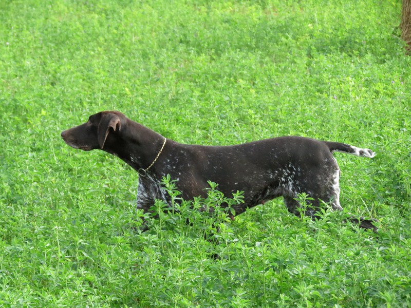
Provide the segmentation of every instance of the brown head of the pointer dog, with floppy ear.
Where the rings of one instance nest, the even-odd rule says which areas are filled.
[[[124,115],[118,111],[102,111],[91,115],[88,121],[61,133],[71,147],[90,151],[103,149],[110,132],[118,132]]]

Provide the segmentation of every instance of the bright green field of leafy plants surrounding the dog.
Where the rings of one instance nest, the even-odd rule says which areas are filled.
[[[411,306],[400,17],[400,0],[2,0],[0,306]],[[335,153],[344,213],[298,219],[278,198],[219,223],[157,202],[141,233],[137,173],[60,137],[101,110],[182,143],[291,134],[377,157]]]

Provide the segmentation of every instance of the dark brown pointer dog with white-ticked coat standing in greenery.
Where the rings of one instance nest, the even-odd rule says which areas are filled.
[[[332,155],[340,151],[372,158],[370,149],[339,142],[287,136],[230,146],[189,145],[166,139],[125,117],[119,111],[91,115],[82,125],[61,133],[71,147],[101,149],[118,156],[139,173],[137,208],[150,211],[155,199],[170,201],[161,179],[170,175],[185,200],[206,197],[208,181],[218,183],[227,197],[244,191],[244,203],[232,206],[235,215],[247,208],[283,196],[288,211],[298,217],[298,194],[306,193],[305,215],[316,217],[324,202],[333,210],[340,205],[340,168]],[[311,199],[310,198],[310,199]],[[377,228],[375,219],[351,218],[360,227]]]

